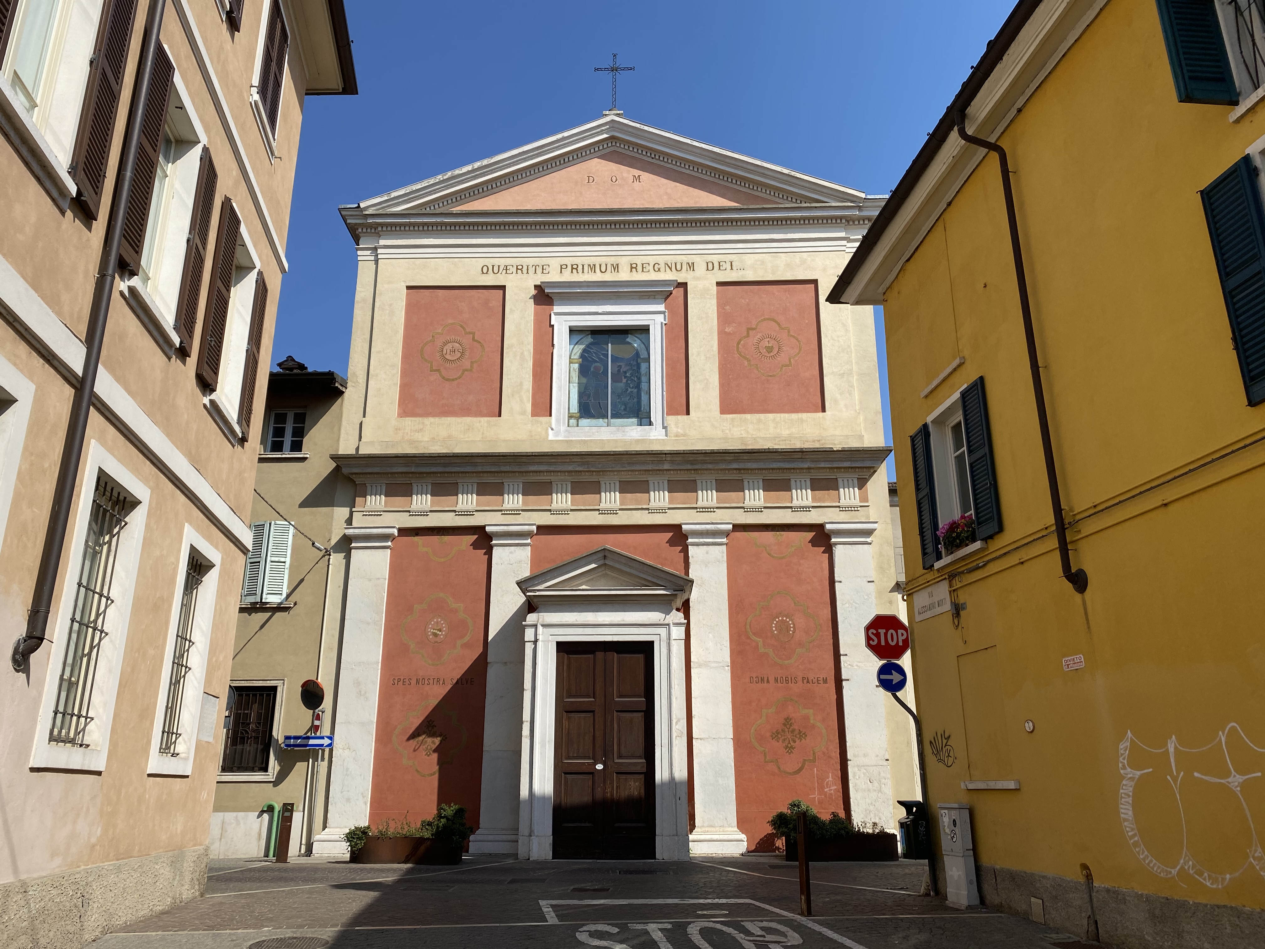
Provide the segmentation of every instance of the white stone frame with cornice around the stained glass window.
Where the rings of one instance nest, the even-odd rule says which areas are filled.
[[[541,288],[553,297],[549,321],[554,328],[553,424],[549,438],[665,438],[664,345],[665,301],[674,280],[548,281]],[[571,334],[586,329],[644,329],[650,334],[650,424],[569,426]]]

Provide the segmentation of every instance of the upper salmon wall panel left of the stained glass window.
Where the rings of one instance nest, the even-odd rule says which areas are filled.
[[[400,350],[401,419],[501,414],[505,287],[410,287]]]

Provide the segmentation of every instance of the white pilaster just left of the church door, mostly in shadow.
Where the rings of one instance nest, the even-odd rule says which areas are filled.
[[[516,854],[517,777],[522,755],[522,620],[528,615],[528,600],[517,581],[531,573],[531,535],[536,525],[488,524],[484,530],[492,537],[492,588],[487,611],[483,785],[479,828],[471,838],[471,853]]]

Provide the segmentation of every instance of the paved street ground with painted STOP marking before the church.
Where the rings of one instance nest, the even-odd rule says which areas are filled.
[[[918,896],[925,864],[466,858],[460,867],[213,860],[206,896],[102,936],[100,949],[1071,949],[987,910]]]

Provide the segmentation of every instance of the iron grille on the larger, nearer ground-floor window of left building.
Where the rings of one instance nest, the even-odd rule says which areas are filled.
[[[83,537],[83,558],[75,583],[75,606],[66,630],[66,653],[57,678],[49,744],[89,747],[86,734],[92,724],[92,690],[101,643],[109,635],[105,617],[114,604],[110,590],[119,558],[119,535],[128,525],[130,501],[123,491],[97,475]]]

